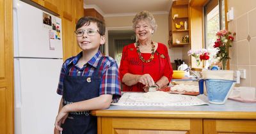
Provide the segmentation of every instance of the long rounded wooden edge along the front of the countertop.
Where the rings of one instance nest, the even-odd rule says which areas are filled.
[[[256,119],[256,112],[161,111],[161,110],[92,110],[99,117],[149,117],[193,119]]]

